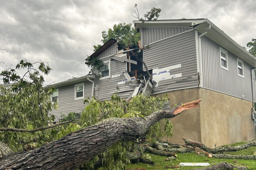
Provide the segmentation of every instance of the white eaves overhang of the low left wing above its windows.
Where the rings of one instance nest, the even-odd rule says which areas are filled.
[[[67,86],[69,84],[75,84],[75,83],[87,81],[87,77],[93,79],[93,78],[95,78],[95,74],[88,74],[88,75],[85,75],[85,76],[82,76],[82,77],[77,77],[77,78],[69,79],[69,80],[66,80],[66,81],[61,81],[61,82],[58,82],[58,83],[50,84],[48,86],[44,86],[43,90],[47,90],[49,87],[59,88],[59,87]]]

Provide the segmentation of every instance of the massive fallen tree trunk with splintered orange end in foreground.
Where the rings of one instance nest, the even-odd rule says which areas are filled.
[[[3,157],[0,169],[74,169],[106,151],[114,143],[136,140],[147,134],[159,120],[173,118],[184,110],[197,107],[200,102],[180,103],[173,109],[162,109],[144,118],[106,119],[38,149]]]

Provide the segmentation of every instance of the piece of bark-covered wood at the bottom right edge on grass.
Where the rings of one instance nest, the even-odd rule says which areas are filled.
[[[247,168],[244,166],[235,166],[227,162],[221,162],[211,167],[202,168],[202,169],[193,169],[193,170],[233,170],[233,169],[245,170]]]

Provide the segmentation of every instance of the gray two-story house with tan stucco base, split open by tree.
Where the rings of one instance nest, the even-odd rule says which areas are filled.
[[[83,99],[92,96],[106,100],[117,92],[129,100],[143,92],[167,93],[164,108],[197,98],[203,102],[172,118],[173,137],[163,140],[182,144],[184,136],[210,147],[255,138],[252,54],[208,19],[133,23],[141,34],[139,48],[124,49],[115,39],[106,42],[90,56],[103,61],[101,70],[52,85],[57,89],[52,101],[59,105],[52,114],[81,113]]]

